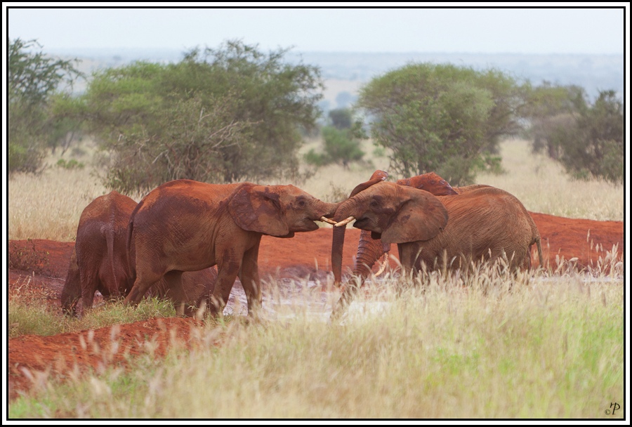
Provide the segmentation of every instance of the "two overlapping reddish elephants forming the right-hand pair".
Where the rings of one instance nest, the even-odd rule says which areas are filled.
[[[489,185],[452,188],[435,173],[397,183],[385,182],[387,176],[376,171],[336,210],[331,245],[336,283],[342,276],[344,226],[353,219],[354,227],[362,230],[354,268],[361,280],[393,243],[404,270],[419,271],[422,263],[428,270],[456,270],[473,261],[506,256],[515,271],[529,267],[533,244],[544,265],[538,229],[510,193]],[[350,302],[352,292],[353,287],[345,288],[334,312]]]

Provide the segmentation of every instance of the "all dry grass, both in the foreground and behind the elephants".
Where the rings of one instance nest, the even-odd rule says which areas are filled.
[[[506,141],[502,150],[510,173],[481,175],[479,183],[512,192],[531,211],[623,219],[621,187],[572,181],[550,160],[531,156],[525,141]],[[322,199],[343,197],[374,169],[388,170],[387,159],[372,162],[350,170],[329,166],[296,185]],[[11,178],[9,238],[72,240],[81,210],[105,192],[89,167]],[[467,283],[433,275],[424,286],[387,275],[380,286],[366,287],[339,324],[327,322],[336,292],[322,303],[313,291],[320,286],[296,282],[292,286],[304,294],[287,304],[274,294],[282,286],[272,282],[264,300],[272,310],[260,322],[207,320],[192,326],[197,348],[174,346],[161,360],[148,344],[147,357],[134,360],[131,370],[108,365],[65,381],[41,376],[39,388],[11,402],[8,414],[12,419],[619,418],[625,412],[613,417],[605,410],[611,402],[624,403],[622,268],[619,263],[586,276],[558,265],[517,280],[479,270]],[[10,306],[12,314],[20,310]],[[103,314],[107,310],[94,310],[94,316],[108,320],[82,321],[89,327],[111,324],[112,316]],[[49,315],[34,316],[51,324]],[[114,319],[127,318],[117,311]],[[221,345],[214,346],[218,339]]]

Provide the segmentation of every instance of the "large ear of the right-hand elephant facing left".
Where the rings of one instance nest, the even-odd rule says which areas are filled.
[[[406,243],[429,240],[441,232],[448,221],[445,206],[425,190],[402,188],[404,202],[386,229],[382,242]]]

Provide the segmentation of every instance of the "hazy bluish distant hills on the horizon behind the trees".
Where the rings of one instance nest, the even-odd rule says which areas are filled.
[[[116,67],[134,60],[172,63],[183,58],[177,49],[51,49],[48,53],[79,58],[80,69],[88,74],[101,67]],[[357,53],[290,51],[287,60],[317,65],[326,80],[322,107],[324,110],[346,107],[357,97],[357,89],[371,78],[407,63],[452,63],[475,70],[497,68],[520,81],[541,84],[577,84],[586,89],[591,99],[600,90],[624,91],[624,55],[532,55],[518,53]],[[77,87],[81,91],[81,86]]]

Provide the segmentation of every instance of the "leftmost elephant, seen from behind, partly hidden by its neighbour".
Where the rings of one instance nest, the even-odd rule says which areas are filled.
[[[133,199],[112,191],[94,199],[81,212],[77,241],[61,292],[64,313],[76,315],[79,298],[84,310],[91,308],[96,291],[110,299],[129,292],[127,224],[135,207]],[[178,315],[190,316],[210,296],[216,277],[214,268],[187,272],[181,283],[176,280],[178,277],[166,277],[152,296],[170,298]]]

